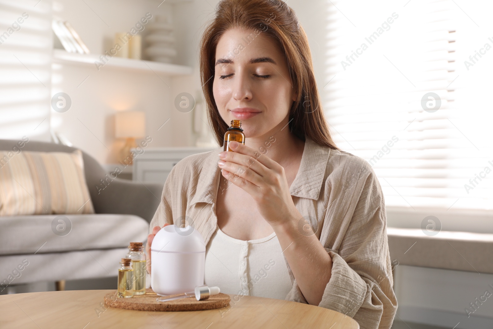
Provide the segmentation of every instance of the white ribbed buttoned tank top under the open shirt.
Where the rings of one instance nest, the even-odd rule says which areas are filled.
[[[217,226],[206,249],[204,284],[223,293],[284,299],[293,282],[276,232],[238,240]]]

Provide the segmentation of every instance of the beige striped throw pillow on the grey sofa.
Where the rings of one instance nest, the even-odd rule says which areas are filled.
[[[0,151],[0,216],[94,214],[82,152]]]

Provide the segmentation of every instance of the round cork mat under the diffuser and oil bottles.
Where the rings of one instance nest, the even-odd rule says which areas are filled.
[[[221,308],[229,304],[231,298],[225,293],[212,295],[209,299],[197,300],[186,297],[169,301],[156,301],[159,295],[147,288],[143,295],[131,298],[116,297],[117,292],[107,293],[105,302],[108,306],[136,311],[200,311]]]

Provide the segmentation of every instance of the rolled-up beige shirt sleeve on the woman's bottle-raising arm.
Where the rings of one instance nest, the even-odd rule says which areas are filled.
[[[324,226],[328,226],[322,228],[322,235],[335,231],[337,236],[322,243],[332,258],[332,271],[318,306],[352,317],[361,329],[389,329],[397,299],[392,289],[385,201],[372,168],[365,161],[359,169],[360,175],[352,172],[349,184],[332,186],[333,193],[344,194],[337,195],[338,201],[331,203],[325,215]],[[286,299],[307,303],[296,280]]]

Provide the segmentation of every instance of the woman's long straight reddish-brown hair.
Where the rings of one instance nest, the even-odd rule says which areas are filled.
[[[206,27],[200,45],[200,75],[209,122],[218,145],[228,125],[221,118],[212,94],[215,50],[229,29],[261,30],[285,54],[297,99],[289,110],[289,130],[301,140],[308,136],[322,146],[339,149],[330,136],[313,72],[312,55],[305,31],[294,11],[282,0],[221,0]]]

